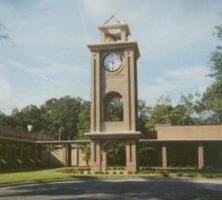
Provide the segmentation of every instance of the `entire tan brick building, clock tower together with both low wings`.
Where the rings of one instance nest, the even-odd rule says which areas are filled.
[[[129,26],[115,16],[98,29],[101,41],[88,45],[92,77],[89,140],[56,141],[46,134],[2,127],[0,166],[90,166],[92,172],[106,172],[110,145],[121,143],[129,172],[138,169],[139,146],[152,148],[143,157],[148,166],[222,167],[222,126],[159,125],[149,138],[141,138],[137,125],[138,44],[129,40]],[[118,105],[115,110],[113,103]],[[84,154],[87,144],[90,160]]]

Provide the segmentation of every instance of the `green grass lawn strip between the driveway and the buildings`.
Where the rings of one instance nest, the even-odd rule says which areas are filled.
[[[0,172],[0,186],[14,183],[25,183],[25,182],[37,182],[37,181],[49,181],[49,180],[64,180],[64,179],[110,179],[110,178],[162,178],[162,177],[205,177],[205,178],[218,178],[222,177],[221,170],[219,171],[200,171],[200,170],[182,170],[182,169],[169,169],[166,175],[161,171],[147,171],[146,173],[136,174],[81,174],[72,173],[73,167],[70,168],[53,168],[53,169],[15,169]],[[65,173],[64,173],[65,172]],[[202,200],[202,199],[201,199]],[[205,199],[203,199],[205,200]],[[208,200],[208,199],[206,199]],[[211,200],[211,199],[209,199]],[[217,197],[212,197],[212,200],[217,200]]]

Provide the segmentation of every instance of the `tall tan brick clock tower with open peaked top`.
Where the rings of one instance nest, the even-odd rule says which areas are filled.
[[[114,23],[113,23],[114,22]],[[137,59],[136,41],[129,41],[127,24],[112,16],[98,27],[101,41],[91,52],[91,171],[107,171],[110,144],[125,146],[126,170],[137,170]]]

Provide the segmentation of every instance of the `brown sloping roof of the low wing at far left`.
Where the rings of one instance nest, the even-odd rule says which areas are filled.
[[[0,137],[21,139],[21,140],[30,140],[30,141],[55,140],[54,137],[44,134],[44,133],[28,132],[28,131],[7,128],[7,127],[0,127]]]

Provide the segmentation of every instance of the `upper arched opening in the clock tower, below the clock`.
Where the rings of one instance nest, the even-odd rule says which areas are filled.
[[[117,92],[108,93],[104,99],[104,118],[108,122],[123,121],[123,98]]]

